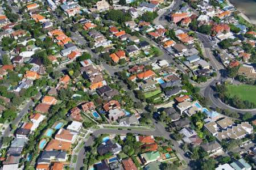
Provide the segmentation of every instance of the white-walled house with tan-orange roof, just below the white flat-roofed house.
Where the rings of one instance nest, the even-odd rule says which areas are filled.
[[[77,133],[72,132],[70,130],[65,130],[61,128],[57,134],[55,135],[55,139],[63,142],[69,142],[69,143],[74,143],[77,138]]]

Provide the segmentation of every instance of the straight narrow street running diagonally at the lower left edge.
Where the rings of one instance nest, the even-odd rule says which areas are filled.
[[[42,94],[39,92],[39,94],[36,95],[34,98],[35,98],[35,99],[40,99],[41,96],[42,96]],[[30,99],[29,99],[29,100],[30,100]],[[28,111],[30,110],[30,107],[31,107],[31,106],[34,106],[34,104],[35,104],[35,103],[34,103],[32,100],[30,100],[30,101],[25,105],[25,107],[22,109],[22,111],[20,111],[20,112],[17,114],[17,117],[14,119],[14,121],[11,122],[10,124],[13,124],[13,125],[17,126],[17,125],[19,124],[20,120],[22,119],[23,115],[26,114],[26,113],[28,113]],[[6,128],[6,130],[4,131],[3,135],[1,136],[0,148],[2,147],[2,139],[3,139],[4,137],[9,137],[9,136],[10,136],[10,133],[11,133],[11,128],[10,128],[10,126],[8,126],[8,127]]]

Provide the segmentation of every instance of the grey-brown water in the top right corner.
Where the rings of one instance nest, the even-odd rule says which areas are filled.
[[[229,0],[238,10],[245,14],[253,24],[256,24],[255,0]]]

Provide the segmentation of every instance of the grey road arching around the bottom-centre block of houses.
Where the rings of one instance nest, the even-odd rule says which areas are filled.
[[[92,133],[92,135],[88,138],[86,141],[84,147],[81,148],[78,154],[77,162],[76,162],[76,170],[82,169],[84,166],[84,152],[86,147],[92,146],[92,143],[96,137],[100,134],[123,134],[126,135],[127,133],[138,133],[138,134],[144,134],[144,135],[154,135],[154,136],[163,136],[168,140],[172,141],[172,145],[174,146],[175,150],[178,152],[178,156],[181,157],[181,159],[184,159],[185,162],[188,163],[188,167],[185,169],[196,169],[196,165],[191,162],[191,159],[189,159],[187,156],[185,156],[185,152],[180,148],[179,143],[177,141],[174,141],[170,138],[170,133],[168,133],[162,124],[158,123],[155,124],[155,130],[118,130],[118,129],[98,129]]]

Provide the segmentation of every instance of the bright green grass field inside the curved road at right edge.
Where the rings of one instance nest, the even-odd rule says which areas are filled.
[[[256,104],[256,86],[250,85],[229,85],[228,94],[232,97],[237,95],[241,100],[249,100]]]

